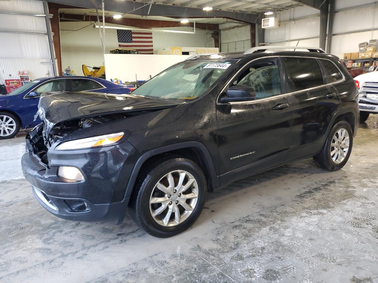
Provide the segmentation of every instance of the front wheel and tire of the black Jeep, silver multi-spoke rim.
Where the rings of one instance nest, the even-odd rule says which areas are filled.
[[[150,235],[171,237],[197,220],[205,194],[206,178],[197,163],[178,156],[166,157],[139,177],[130,212]]]

